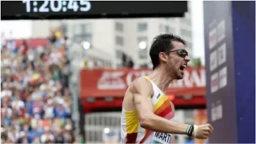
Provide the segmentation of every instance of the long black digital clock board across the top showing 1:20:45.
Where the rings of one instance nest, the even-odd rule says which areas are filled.
[[[1,1],[1,19],[182,17],[186,1]]]

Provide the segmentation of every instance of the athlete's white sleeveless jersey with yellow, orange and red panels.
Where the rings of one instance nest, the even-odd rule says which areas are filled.
[[[154,114],[166,119],[174,118],[174,106],[162,90],[148,77],[153,86]],[[122,143],[171,143],[171,134],[158,133],[142,128],[139,124],[137,110],[126,111],[122,109],[121,116],[121,142]]]

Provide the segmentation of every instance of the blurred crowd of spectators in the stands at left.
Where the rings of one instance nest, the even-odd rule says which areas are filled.
[[[66,37],[50,30],[46,46],[1,46],[1,142],[74,142]]]

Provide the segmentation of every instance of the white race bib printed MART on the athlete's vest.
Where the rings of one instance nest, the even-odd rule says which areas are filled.
[[[152,143],[171,143],[171,134],[154,132]]]

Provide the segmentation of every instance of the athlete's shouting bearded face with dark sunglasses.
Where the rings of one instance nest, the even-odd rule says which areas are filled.
[[[190,62],[190,58],[187,56],[186,46],[182,42],[173,41],[172,45],[174,49],[170,50],[170,53],[160,54],[160,58],[164,58],[162,60],[166,63],[166,72],[170,77],[182,79],[184,76],[183,70]]]

